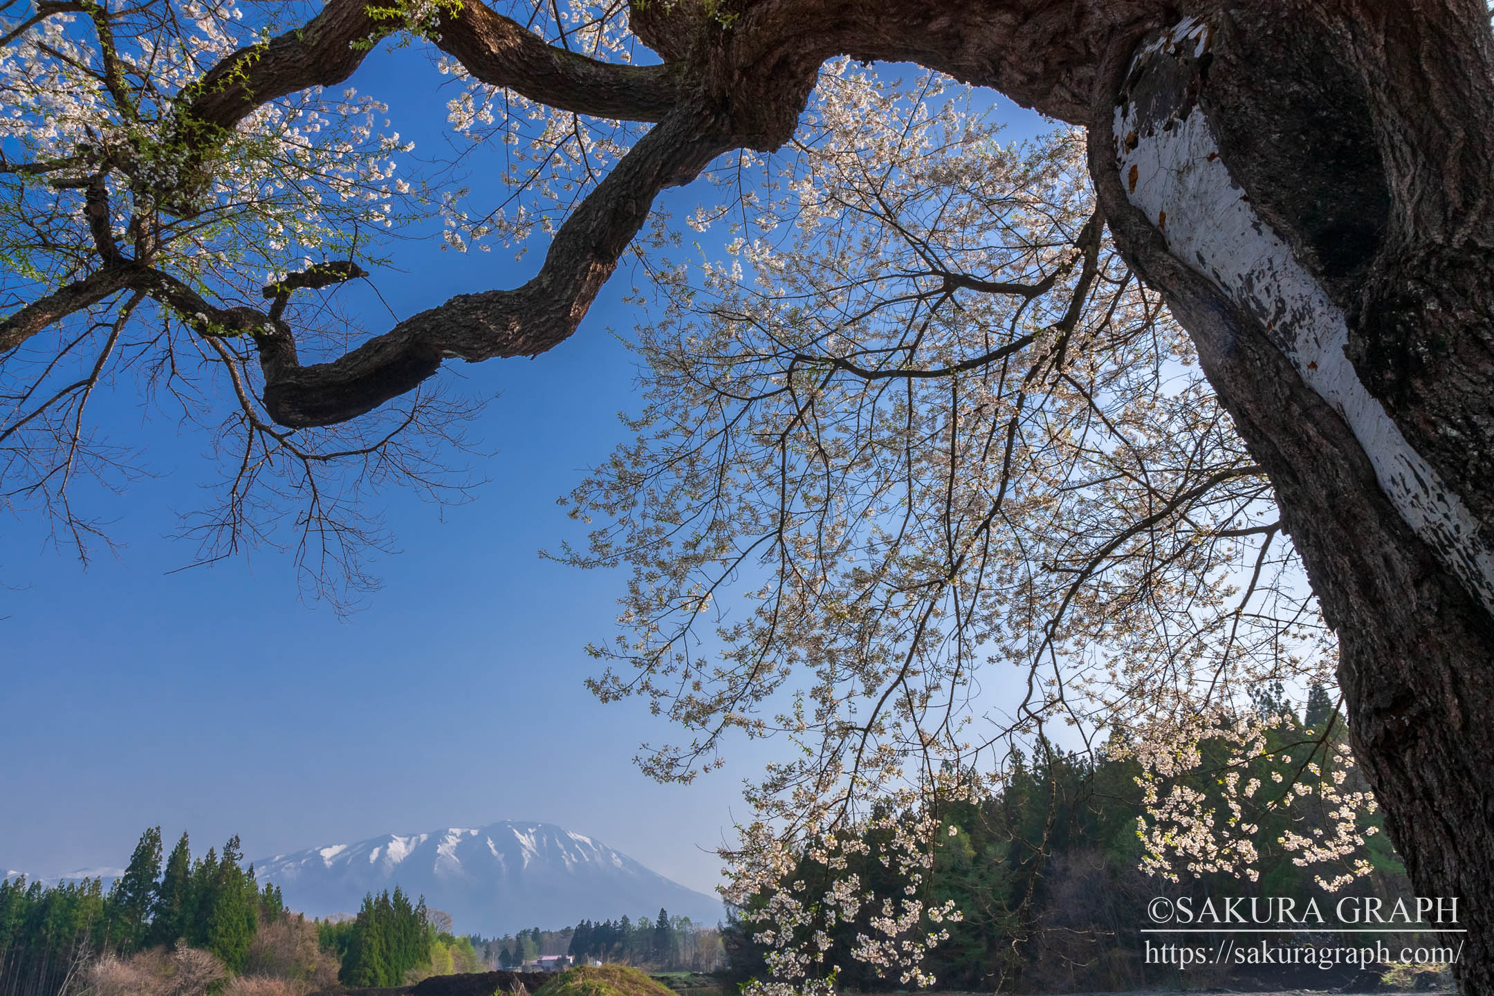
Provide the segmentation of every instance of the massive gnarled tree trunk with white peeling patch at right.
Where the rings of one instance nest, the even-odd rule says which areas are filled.
[[[1461,899],[1467,993],[1494,992],[1491,66],[1482,4],[1250,0],[1113,37],[1088,122],[1339,633],[1412,883]]]

